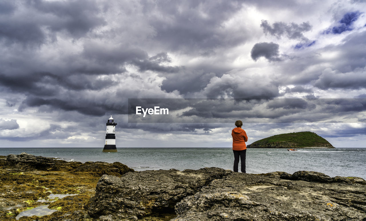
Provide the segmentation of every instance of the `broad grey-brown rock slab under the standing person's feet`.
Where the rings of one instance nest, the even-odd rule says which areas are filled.
[[[307,174],[313,174],[314,181]],[[284,180],[280,175],[233,173],[214,180],[177,203],[178,217],[171,221],[366,220],[365,185],[337,183],[307,171],[295,173],[293,179],[300,180]]]

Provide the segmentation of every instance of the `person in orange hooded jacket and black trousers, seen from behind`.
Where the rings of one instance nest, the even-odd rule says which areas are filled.
[[[231,131],[232,136],[232,151],[234,152],[234,172],[238,172],[239,157],[242,164],[241,171],[245,173],[245,157],[247,152],[248,136],[245,130],[242,129],[243,122],[235,121],[235,128]]]

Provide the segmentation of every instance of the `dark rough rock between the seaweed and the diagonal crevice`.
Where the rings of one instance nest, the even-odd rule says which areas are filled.
[[[182,172],[175,169],[139,171],[120,178],[104,175],[97,183],[89,214],[93,217],[111,214],[128,218],[174,213],[176,203],[184,197],[231,173],[221,168],[202,168]]]

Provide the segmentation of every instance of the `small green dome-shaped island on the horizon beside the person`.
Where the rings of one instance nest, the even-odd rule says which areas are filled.
[[[247,148],[335,148],[327,140],[310,131],[278,134],[257,140]]]

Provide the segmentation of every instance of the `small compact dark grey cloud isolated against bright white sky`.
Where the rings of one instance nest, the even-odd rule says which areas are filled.
[[[268,61],[281,61],[279,45],[273,42],[256,43],[250,52],[250,56],[254,61],[257,61],[260,57],[265,57]]]

